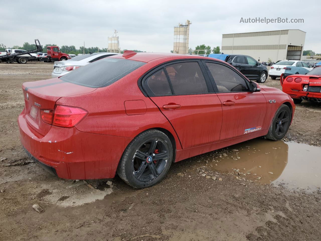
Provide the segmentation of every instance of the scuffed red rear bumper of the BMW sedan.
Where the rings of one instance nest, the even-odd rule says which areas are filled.
[[[18,128],[22,146],[33,161],[65,179],[113,178],[132,140],[54,126],[39,137],[25,121],[24,110],[18,117]]]

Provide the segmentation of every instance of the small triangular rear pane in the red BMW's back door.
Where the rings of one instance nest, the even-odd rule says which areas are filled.
[[[160,69],[146,80],[148,87],[154,95],[171,95],[173,94],[164,69]]]

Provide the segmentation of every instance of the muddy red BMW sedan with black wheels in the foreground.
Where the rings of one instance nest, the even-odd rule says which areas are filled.
[[[172,162],[252,138],[284,137],[295,105],[213,58],[125,51],[22,85],[27,154],[66,179],[152,186]]]

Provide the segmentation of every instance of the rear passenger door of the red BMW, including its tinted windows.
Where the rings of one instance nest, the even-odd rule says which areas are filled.
[[[175,61],[158,67],[143,79],[143,88],[169,120],[184,149],[220,140],[221,101],[201,62]]]

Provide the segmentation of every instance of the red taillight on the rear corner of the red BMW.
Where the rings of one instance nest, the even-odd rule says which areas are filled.
[[[78,107],[56,105],[52,110],[41,110],[43,122],[59,127],[74,127],[88,114],[87,111]]]

